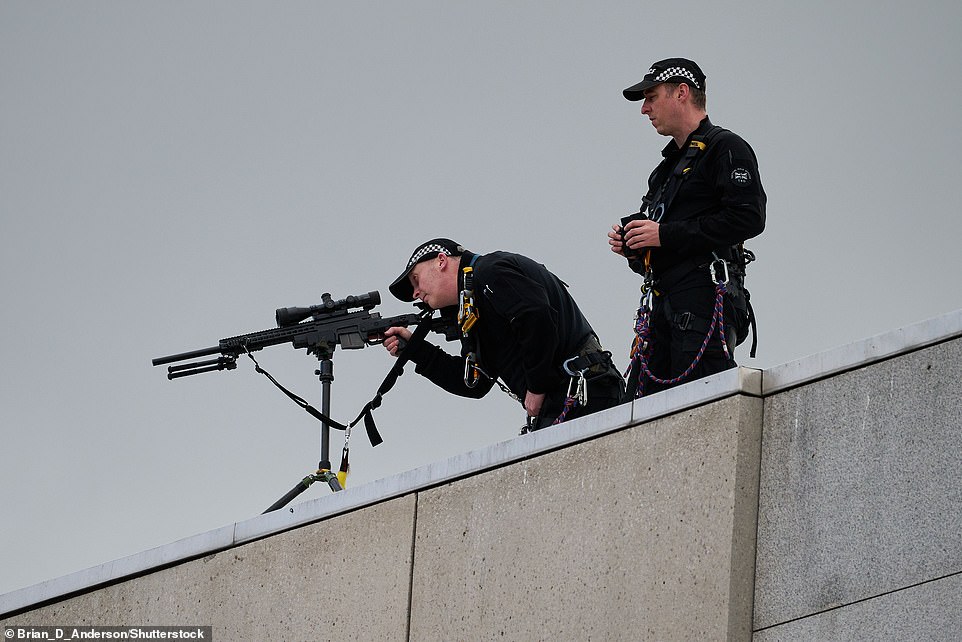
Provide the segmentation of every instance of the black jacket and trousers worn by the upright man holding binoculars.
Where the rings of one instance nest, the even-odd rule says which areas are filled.
[[[659,196],[675,172],[692,140],[706,142],[704,150],[691,160],[690,171],[667,209],[659,210]],[[648,365],[660,379],[674,379],[694,361],[710,327],[715,305],[715,284],[709,265],[715,258],[732,266],[737,261],[734,246],[765,228],[765,191],[758,176],[758,162],[752,148],[738,135],[716,127],[704,118],[679,149],[674,141],[662,151],[664,160],[648,179],[648,215],[660,223],[661,247],[651,248],[650,265],[656,296],[651,311],[651,352]],[[633,269],[641,271],[638,262]],[[734,274],[732,274],[734,276]],[[736,327],[746,323],[744,293],[735,280],[725,297],[724,320],[729,351],[735,347]],[[698,366],[684,381],[735,367],[717,336],[712,337]],[[637,372],[628,381],[634,396]],[[649,394],[668,387],[652,380],[644,382]]]

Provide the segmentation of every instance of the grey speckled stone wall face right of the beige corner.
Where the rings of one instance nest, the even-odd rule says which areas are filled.
[[[756,629],[942,587],[956,605],[936,615],[962,632],[958,577],[936,582],[962,573],[962,340],[773,394],[764,435]]]

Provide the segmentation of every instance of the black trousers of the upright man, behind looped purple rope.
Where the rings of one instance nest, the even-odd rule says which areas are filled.
[[[715,312],[715,299],[715,286],[711,283],[689,285],[654,297],[648,336],[648,369],[654,377],[672,380],[688,370],[708,335]],[[648,395],[736,367],[735,309],[729,296],[724,301],[724,318],[725,340],[729,350],[727,356],[716,329],[698,365],[681,381],[653,381],[640,371],[637,363],[633,363],[628,375],[627,398],[635,398],[639,378],[643,394]]]

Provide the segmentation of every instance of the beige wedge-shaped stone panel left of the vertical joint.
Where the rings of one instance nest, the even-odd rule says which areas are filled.
[[[414,503],[377,504],[2,624],[212,625],[215,640],[406,640]]]

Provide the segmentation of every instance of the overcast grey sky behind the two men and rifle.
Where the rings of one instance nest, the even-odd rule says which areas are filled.
[[[0,1],[0,592],[255,516],[312,472],[317,423],[249,362],[171,382],[150,360],[324,292],[412,311],[387,285],[427,238],[544,262],[623,366],[638,281],[605,234],[665,139],[621,90],[661,58],[701,65],[768,192],[742,365],[959,308],[960,24],[948,1]],[[257,356],[319,404],[312,357]],[[334,362],[349,420],[392,360]],[[349,485],[523,423],[409,370]]]

